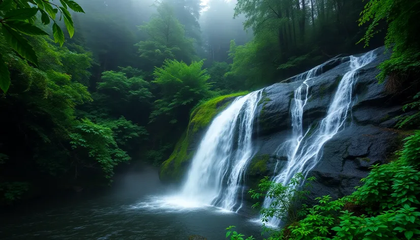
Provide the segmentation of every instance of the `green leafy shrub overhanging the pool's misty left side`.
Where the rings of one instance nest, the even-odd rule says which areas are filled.
[[[81,164],[99,164],[106,178],[113,175],[114,166],[130,160],[127,153],[118,147],[110,128],[81,119],[74,129],[70,134],[70,144],[81,155],[78,160],[82,161]]]

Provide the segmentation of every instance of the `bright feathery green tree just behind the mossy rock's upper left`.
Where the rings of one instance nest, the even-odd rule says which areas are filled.
[[[191,65],[167,60],[161,68],[155,68],[153,83],[160,86],[162,98],[155,101],[152,122],[166,116],[168,122],[174,124],[179,120],[179,112],[188,112],[199,100],[210,95],[211,84],[207,82],[210,76],[202,66],[203,60]]]

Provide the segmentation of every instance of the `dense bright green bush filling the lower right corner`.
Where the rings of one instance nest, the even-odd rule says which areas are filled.
[[[318,197],[319,204],[301,209],[305,214],[299,218],[284,218],[289,212],[284,205],[290,205],[292,198],[288,194],[278,195],[276,201],[283,205],[262,208],[263,220],[276,216],[273,213],[283,213],[280,217],[287,220],[287,225],[282,229],[264,227],[264,232],[270,234],[267,239],[418,239],[420,172],[409,165],[410,160],[418,160],[409,153],[418,150],[408,143],[415,138],[408,138],[398,160],[373,166],[362,179],[364,185],[353,194],[335,201],[330,196]],[[273,183],[264,179],[260,190],[266,190],[267,186]],[[286,190],[287,186],[280,185],[278,189]],[[251,194],[255,195],[253,191]]]

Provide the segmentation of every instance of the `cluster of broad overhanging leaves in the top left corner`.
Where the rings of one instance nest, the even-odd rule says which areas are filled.
[[[61,16],[64,16],[64,22],[71,38],[74,34],[74,26],[67,6],[75,12],[83,12],[83,9],[72,0],[61,0],[61,3],[63,4],[63,7],[58,7],[48,1],[3,0],[0,2],[0,26],[5,40],[20,56],[36,66],[39,65],[38,56],[35,53],[33,46],[28,43],[24,36],[48,35],[34,24],[37,19],[38,11],[41,13],[42,23],[48,24],[50,22],[49,18],[54,21],[52,26],[54,41],[55,43],[58,42],[61,46],[64,44],[64,33],[55,22],[55,14],[59,11]],[[29,4],[32,4],[35,7],[32,7]],[[0,71],[2,73],[0,75],[0,88],[6,93],[10,85],[10,75],[6,69],[7,62],[5,63],[3,61],[5,61],[5,59],[0,61]]]

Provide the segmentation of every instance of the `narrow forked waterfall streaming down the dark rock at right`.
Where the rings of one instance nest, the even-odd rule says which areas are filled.
[[[350,70],[345,73],[340,81],[326,116],[312,134],[309,134],[311,127],[304,134],[303,111],[308,101],[308,80],[315,76],[315,73],[319,71],[319,67],[300,76],[305,78],[305,80],[294,92],[294,104],[290,111],[292,116],[292,138],[279,147],[279,151],[286,151],[288,161],[286,166],[280,169],[280,172],[272,178],[272,181],[287,185],[296,173],[301,172],[306,176],[315,167],[325,142],[344,128],[353,103],[351,96],[353,86],[357,80],[357,70],[371,63],[374,58],[373,51],[360,57],[350,56]],[[273,201],[274,199],[265,198],[263,207],[269,207]],[[280,219],[277,218],[269,219],[268,222],[272,226],[279,226],[280,223]]]

